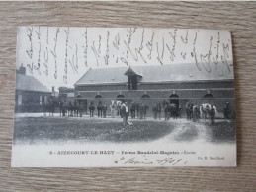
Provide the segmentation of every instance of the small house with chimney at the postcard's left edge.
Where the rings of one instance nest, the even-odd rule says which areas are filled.
[[[43,104],[52,93],[33,76],[26,75],[26,68],[16,70],[15,111],[42,112]]]

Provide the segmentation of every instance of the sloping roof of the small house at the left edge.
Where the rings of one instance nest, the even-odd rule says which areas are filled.
[[[44,86],[40,81],[38,81],[33,76],[27,76],[18,73],[16,74],[16,89],[23,91],[51,93],[46,88],[46,86]]]

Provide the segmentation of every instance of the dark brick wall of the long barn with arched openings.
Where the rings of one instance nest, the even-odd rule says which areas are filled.
[[[105,85],[105,86],[77,86],[75,88],[75,96],[81,95],[87,99],[87,102],[94,101],[97,105],[99,100],[105,102],[108,106],[111,100],[117,99],[122,94],[128,104],[133,102],[143,102],[149,106],[149,115],[152,113],[154,103],[163,100],[169,101],[172,94],[179,96],[179,105],[182,107],[182,116],[185,116],[185,105],[192,102],[197,105],[202,103],[210,103],[216,106],[219,114],[223,116],[223,107],[226,102],[230,104],[230,110],[234,113],[234,85],[232,81],[221,82],[189,82],[189,83],[168,83],[168,84],[140,84],[138,90],[129,91],[128,85]],[[168,90],[166,90],[168,89]],[[206,94],[212,94],[213,99],[205,99]],[[141,99],[144,94],[148,94],[150,99]],[[101,95],[102,99],[95,99],[95,96]],[[232,114],[234,115],[234,114]]]

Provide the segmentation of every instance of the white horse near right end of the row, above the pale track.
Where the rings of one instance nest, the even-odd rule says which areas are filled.
[[[209,122],[210,123],[212,122],[213,124],[216,112],[217,112],[216,107],[211,104],[204,103],[204,104],[201,104],[200,106],[200,114],[201,114],[201,117],[205,119],[205,122],[206,122],[206,119],[208,119]]]

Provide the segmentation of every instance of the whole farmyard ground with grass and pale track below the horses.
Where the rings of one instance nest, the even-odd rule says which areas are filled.
[[[14,144],[20,143],[67,143],[75,142],[147,142],[206,141],[223,143],[235,141],[234,120],[191,122],[186,119],[154,120],[128,119],[131,122],[123,127],[122,119],[98,117],[59,117],[59,116],[16,116],[14,124]]]

